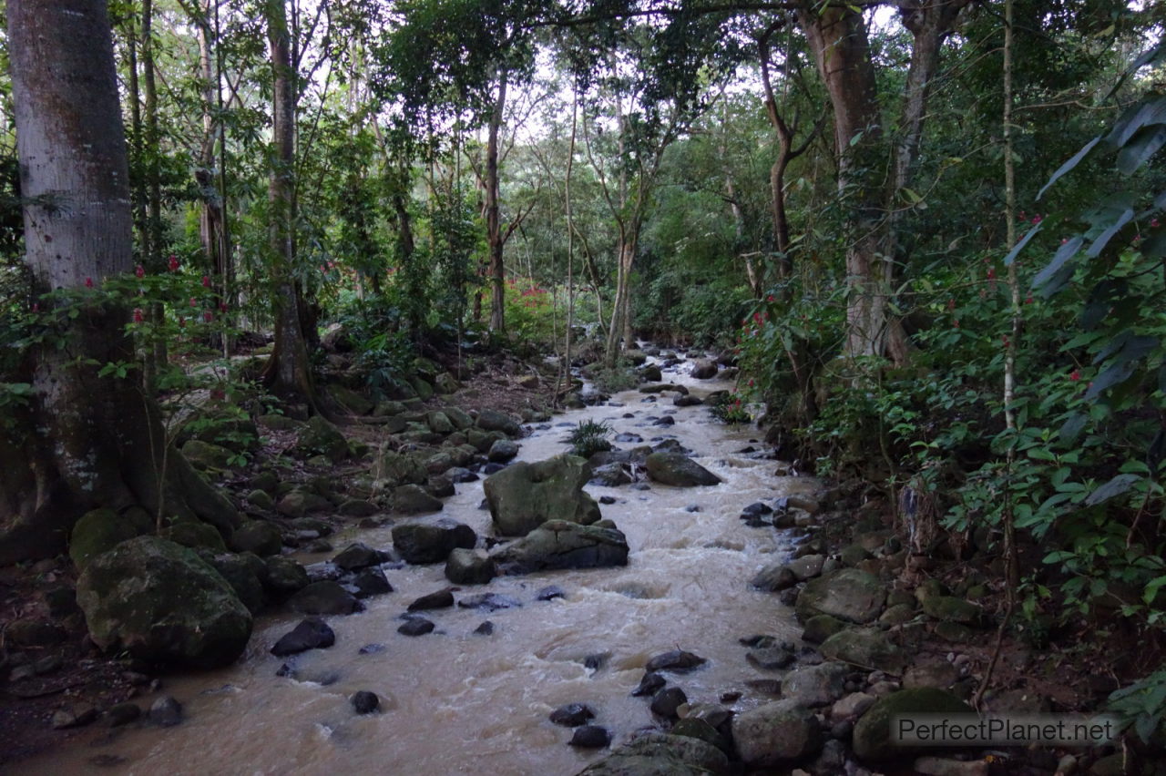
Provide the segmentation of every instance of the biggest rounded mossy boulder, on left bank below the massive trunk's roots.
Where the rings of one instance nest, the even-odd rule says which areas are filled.
[[[192,550],[139,536],[89,560],[77,602],[93,643],[156,663],[218,668],[247,646],[252,619]]]

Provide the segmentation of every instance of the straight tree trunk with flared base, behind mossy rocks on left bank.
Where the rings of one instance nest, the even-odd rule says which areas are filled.
[[[295,72],[285,0],[265,3],[273,75],[272,158],[267,198],[271,205],[269,249],[275,282],[275,346],[265,381],[273,394],[309,412],[322,412],[316,397],[304,337],[303,299],[295,266]]]

